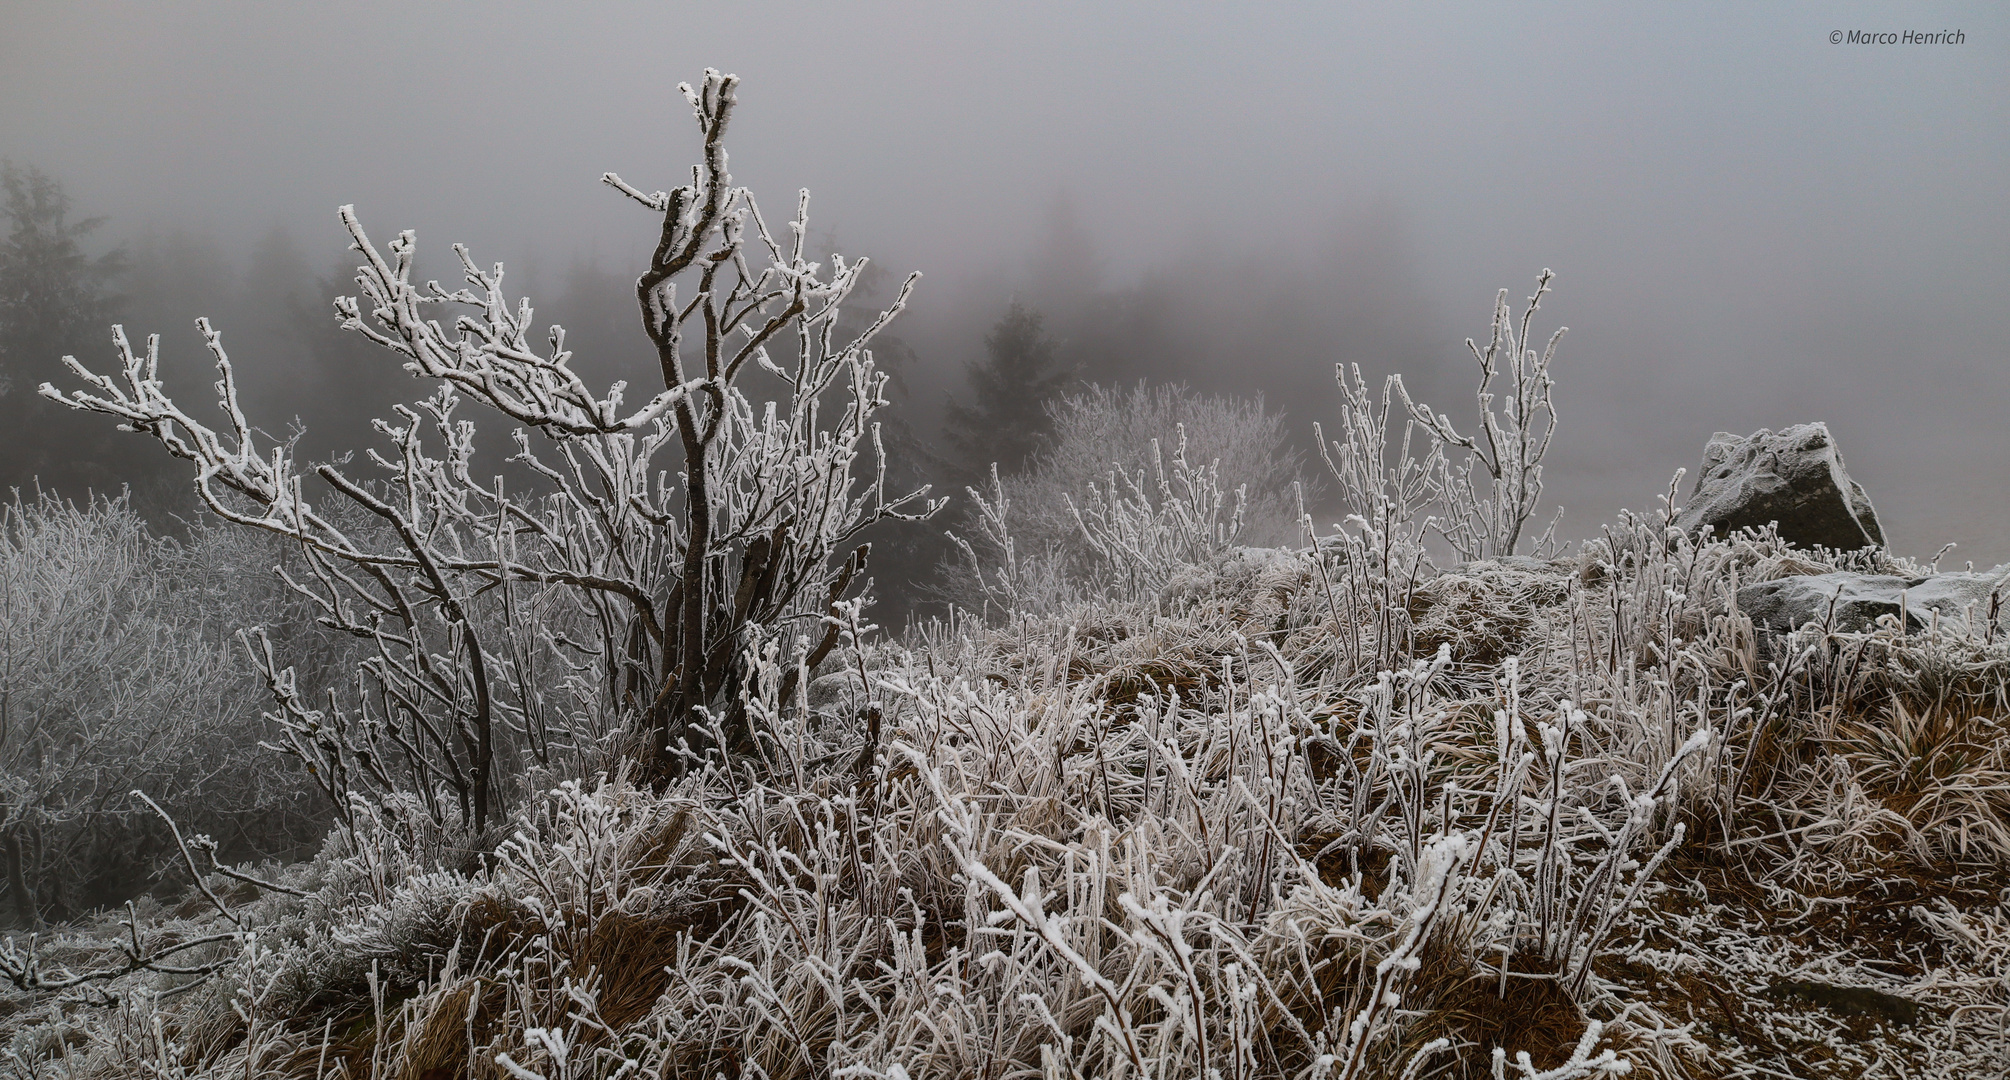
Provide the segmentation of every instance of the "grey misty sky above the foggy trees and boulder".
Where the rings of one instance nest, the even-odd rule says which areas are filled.
[[[651,223],[597,177],[679,183],[673,86],[720,66],[770,219],[808,187],[846,253],[927,274],[923,382],[1037,294],[1063,201],[1089,286],[1274,294],[1260,346],[1208,348],[1294,418],[1335,358],[1459,370],[1548,265],[1572,531],[1713,430],[1827,420],[1899,551],[2010,559],[2010,8],[1385,8],[0,2],[0,155],[107,237],[285,223],[324,265],[356,203],[422,251],[625,265]]]

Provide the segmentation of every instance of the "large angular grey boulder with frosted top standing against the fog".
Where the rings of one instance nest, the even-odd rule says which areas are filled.
[[[1837,551],[1885,543],[1871,499],[1843,471],[1827,424],[1717,432],[1674,523],[1690,537],[1779,523],[1787,543]]]

